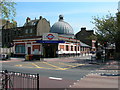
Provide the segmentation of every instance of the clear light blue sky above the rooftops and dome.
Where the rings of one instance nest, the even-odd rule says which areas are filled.
[[[35,0],[34,0],[35,1]],[[35,1],[16,2],[16,17],[18,26],[23,26],[26,18],[30,17],[31,20],[42,16],[50,21],[50,26],[58,21],[59,15],[64,16],[64,21],[68,22],[74,34],[80,31],[81,27],[86,27],[87,30],[94,28],[93,16],[103,17],[109,12],[115,16],[118,9],[118,1],[110,2],[38,2]],[[102,0],[101,0],[102,1]]]

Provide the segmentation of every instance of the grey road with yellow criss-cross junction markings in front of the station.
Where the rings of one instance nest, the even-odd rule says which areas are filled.
[[[69,88],[104,65],[89,64],[90,56],[44,59],[40,61],[14,60],[2,63],[2,69],[40,75],[41,88]],[[97,71],[98,72],[98,71]]]

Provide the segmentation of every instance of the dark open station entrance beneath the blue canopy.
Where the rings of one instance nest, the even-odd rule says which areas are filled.
[[[43,56],[46,58],[57,57],[56,51],[58,50],[58,44],[43,44]]]

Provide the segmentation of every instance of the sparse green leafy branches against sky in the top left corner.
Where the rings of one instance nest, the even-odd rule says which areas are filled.
[[[2,19],[14,20],[16,15],[15,2],[10,0],[0,0],[0,12]]]

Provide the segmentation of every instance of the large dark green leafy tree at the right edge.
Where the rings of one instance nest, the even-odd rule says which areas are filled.
[[[102,18],[93,17],[93,20],[97,40],[104,45],[105,42],[114,43],[116,59],[120,59],[120,12],[115,17],[109,14]]]

